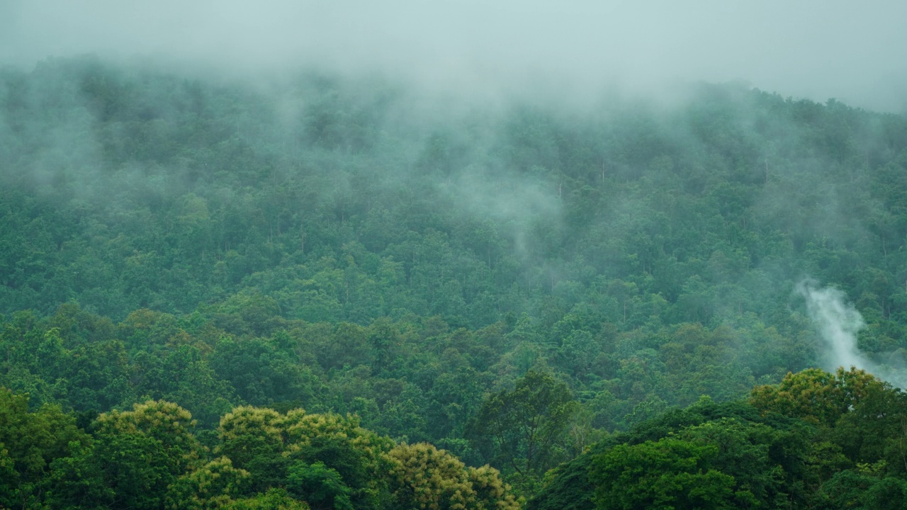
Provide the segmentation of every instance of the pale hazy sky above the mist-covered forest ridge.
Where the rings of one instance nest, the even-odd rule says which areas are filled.
[[[907,1],[0,0],[0,61],[146,54],[452,90],[745,81],[907,111]]]

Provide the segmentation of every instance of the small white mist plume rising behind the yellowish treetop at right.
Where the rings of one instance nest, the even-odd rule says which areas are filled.
[[[831,287],[819,289],[814,280],[801,281],[796,290],[806,299],[809,317],[830,348],[826,355],[827,368],[856,367],[874,371],[875,365],[863,356],[856,344],[856,335],[866,323],[860,312],[846,302],[844,292]]]

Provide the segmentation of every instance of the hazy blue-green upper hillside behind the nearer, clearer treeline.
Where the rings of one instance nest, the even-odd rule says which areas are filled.
[[[245,291],[307,321],[779,326],[805,275],[873,321],[903,301],[896,115],[733,85],[444,108],[366,80],[265,89],[92,59],[0,83],[5,311],[122,320]]]

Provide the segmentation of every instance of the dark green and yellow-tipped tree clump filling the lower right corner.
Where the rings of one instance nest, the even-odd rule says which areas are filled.
[[[752,405],[703,399],[559,466],[528,508],[897,508],[903,428],[885,423],[903,423],[902,397],[859,370],[812,369],[756,387]]]

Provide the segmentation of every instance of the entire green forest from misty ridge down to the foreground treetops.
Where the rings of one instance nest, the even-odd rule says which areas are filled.
[[[0,508],[902,508],[905,244],[834,100],[3,68]]]

